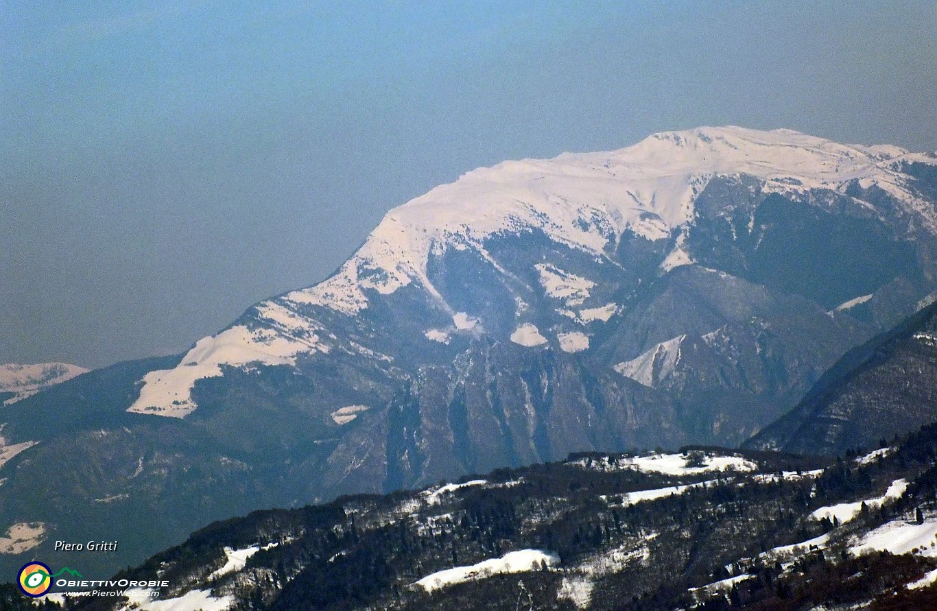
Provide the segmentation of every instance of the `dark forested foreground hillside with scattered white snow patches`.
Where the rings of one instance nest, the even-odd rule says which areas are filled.
[[[935,433],[825,462],[700,447],[571,455],[420,492],[256,512],[118,575],[169,579],[162,603],[131,591],[69,604],[927,608],[937,591]]]

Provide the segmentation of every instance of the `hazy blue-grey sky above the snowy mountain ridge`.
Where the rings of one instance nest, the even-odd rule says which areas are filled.
[[[934,2],[7,0],[0,363],[184,351],[505,158],[725,124],[935,150],[935,31]]]

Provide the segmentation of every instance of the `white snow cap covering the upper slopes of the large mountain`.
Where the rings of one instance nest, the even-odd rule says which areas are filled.
[[[937,233],[933,202],[919,192],[914,177],[901,171],[915,162],[932,167],[935,159],[894,146],[843,145],[786,129],[704,127],[656,134],[610,153],[506,161],[470,171],[388,213],[334,276],[254,306],[241,324],[202,339],[180,365],[149,374],[141,397],[130,410],[184,417],[197,407],[191,396],[194,383],[221,375],[226,365],[295,365],[305,355],[331,350],[367,358],[387,356],[335,336],[330,319],[335,314],[360,317],[378,308],[379,302],[392,301],[391,296],[404,288],[416,292],[409,299],[424,302],[421,306],[432,309],[436,319],[445,315],[439,328],[424,329],[426,339],[445,343],[453,333],[484,333],[486,323],[489,327],[515,323],[508,324],[509,335],[492,334],[496,328],[485,330],[501,340],[510,340],[514,334],[544,337],[529,321],[537,312],[531,311],[528,302],[546,296],[555,300],[555,311],[570,320],[557,327],[550,342],[568,352],[586,350],[592,335],[590,323],[607,322],[622,309],[613,294],[595,290],[608,272],[602,270],[602,276],[594,278],[576,276],[556,265],[561,260],[549,257],[544,258],[548,262],[533,266],[536,277],[531,277],[533,270],[516,269],[513,261],[493,254],[493,246],[507,236],[536,236],[557,254],[571,250],[580,259],[627,267],[632,261],[616,256],[617,251],[622,243],[638,238],[647,243],[642,246],[665,245],[659,272],[691,265],[694,260],[687,237],[694,219],[703,212],[697,209],[697,199],[714,180],[757,192],[759,199],[825,197],[829,201],[810,203],[826,212],[837,205],[851,205],[854,210],[844,212],[855,216],[875,214],[872,203],[856,198],[856,194],[872,194],[893,201],[895,210],[889,214],[933,235]],[[733,223],[744,221],[742,229],[753,235],[759,229],[754,225],[756,207],[743,203],[721,201],[718,216],[731,218]],[[737,240],[739,228],[733,225],[732,229]],[[496,324],[491,319],[502,312],[485,311],[483,306],[488,304],[483,303],[470,304],[475,306],[470,308],[459,303],[461,295],[437,286],[441,278],[434,268],[439,261],[459,256],[489,267],[485,271],[502,276],[498,278],[501,284],[514,281],[519,285],[509,287],[519,289],[512,291],[513,320]],[[628,270],[621,271],[628,274]],[[621,295],[614,296],[620,301]],[[849,295],[845,301],[855,298]],[[525,340],[515,343],[525,345]],[[528,348],[545,343],[537,341]],[[632,371],[633,366],[619,369]]]

